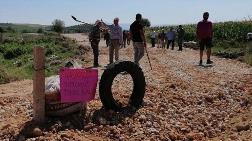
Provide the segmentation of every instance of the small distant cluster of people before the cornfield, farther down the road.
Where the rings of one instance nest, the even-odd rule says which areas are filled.
[[[174,28],[171,27],[168,32],[165,33],[164,30],[162,30],[160,33],[156,33],[155,30],[151,32],[150,38],[151,38],[151,44],[152,47],[155,47],[156,40],[158,41],[158,48],[165,48],[165,43],[167,44],[167,49],[169,48],[171,44],[171,49],[174,50],[175,47],[175,39],[177,36],[179,51],[182,51],[182,46],[184,42],[184,36],[185,36],[185,30],[183,29],[182,25],[179,25],[177,28],[177,32],[174,31]]]

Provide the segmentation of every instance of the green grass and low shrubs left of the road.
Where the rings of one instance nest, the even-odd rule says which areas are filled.
[[[13,27],[9,29],[13,30],[3,27],[1,33],[0,84],[32,78],[35,45],[45,48],[46,76],[57,74],[66,61],[79,53],[75,41],[56,32],[44,31],[43,28],[37,28],[35,33],[23,33]]]

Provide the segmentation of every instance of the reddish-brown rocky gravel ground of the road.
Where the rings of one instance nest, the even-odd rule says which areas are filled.
[[[89,45],[87,36],[65,36]],[[105,66],[108,48],[103,41],[100,46],[100,64]],[[136,112],[105,111],[97,91],[85,115],[50,118],[28,130],[33,127],[32,80],[0,85],[0,140],[251,140],[251,66],[217,57],[212,66],[198,66],[198,51],[191,49],[148,51],[153,70],[145,56],[140,65],[146,94]],[[91,52],[81,57],[87,60],[84,67],[91,66]],[[132,46],[120,50],[121,60],[132,58]],[[103,70],[99,68],[100,75]],[[131,91],[130,76],[116,77],[113,93],[118,100],[125,102]]]

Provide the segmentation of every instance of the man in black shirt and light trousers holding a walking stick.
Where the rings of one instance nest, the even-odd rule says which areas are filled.
[[[144,56],[144,48],[146,47],[146,39],[144,36],[144,27],[141,24],[142,15],[136,14],[136,20],[130,25],[130,33],[132,35],[134,46],[134,62],[139,65],[139,61]]]

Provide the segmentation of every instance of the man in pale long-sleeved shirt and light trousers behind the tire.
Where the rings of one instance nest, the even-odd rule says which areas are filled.
[[[119,18],[114,19],[114,24],[109,26],[111,46],[109,47],[109,63],[113,63],[114,54],[115,60],[119,59],[119,48],[123,44],[123,32],[119,26]]]

